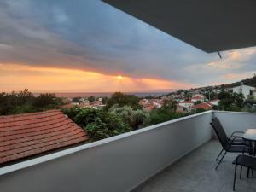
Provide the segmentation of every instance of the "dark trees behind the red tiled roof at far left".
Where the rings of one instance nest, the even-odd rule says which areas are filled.
[[[61,99],[53,94],[41,94],[36,97],[27,89],[18,93],[1,93],[0,115],[44,111],[59,108],[61,103]]]

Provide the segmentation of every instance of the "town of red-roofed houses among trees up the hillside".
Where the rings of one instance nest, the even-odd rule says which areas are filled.
[[[178,113],[198,113],[219,108],[219,94],[221,92],[232,96],[234,93],[242,95],[244,100],[256,98],[256,88],[243,84],[234,87],[209,86],[190,90],[177,90],[164,96],[141,97],[139,104],[144,111],[150,112],[153,109],[161,108],[166,102],[176,102]],[[104,108],[108,97],[66,97],[63,98],[64,105],[61,108]],[[253,103],[253,108],[256,103]]]

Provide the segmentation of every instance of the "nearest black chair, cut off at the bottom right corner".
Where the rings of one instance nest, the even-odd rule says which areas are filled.
[[[234,173],[234,182],[233,182],[233,190],[235,190],[237,166],[241,166],[240,179],[241,179],[242,166],[247,167],[247,177],[249,175],[249,170],[252,170],[252,175],[253,175],[253,170],[256,170],[256,158],[252,157],[252,156],[245,155],[245,154],[240,154],[236,157],[236,160],[233,161],[233,164],[236,165],[235,173]]]

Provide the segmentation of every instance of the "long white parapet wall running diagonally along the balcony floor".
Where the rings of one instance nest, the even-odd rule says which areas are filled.
[[[0,191],[131,191],[211,140],[212,114],[208,111],[171,120],[0,168]],[[224,119],[224,113],[215,114]]]

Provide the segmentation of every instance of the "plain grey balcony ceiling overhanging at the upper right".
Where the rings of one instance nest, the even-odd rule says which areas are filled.
[[[256,46],[255,0],[103,0],[207,53]]]

